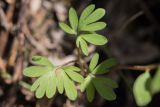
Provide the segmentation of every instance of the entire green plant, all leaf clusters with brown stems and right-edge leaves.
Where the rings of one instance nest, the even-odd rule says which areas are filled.
[[[110,68],[117,64],[114,58],[109,58],[98,64],[99,54],[95,53],[90,60],[89,65],[83,60],[83,54],[89,55],[88,44],[104,45],[108,40],[97,34],[96,31],[106,27],[105,22],[99,21],[105,15],[102,8],[95,9],[95,5],[89,5],[78,17],[74,8],[69,10],[69,25],[60,22],[60,28],[76,38],[77,60],[67,62],[56,66],[46,57],[33,56],[30,66],[24,69],[23,74],[27,77],[37,78],[30,87],[25,82],[21,82],[25,87],[30,87],[35,91],[37,98],[47,96],[52,98],[57,92],[66,93],[70,100],[76,100],[77,90],[86,91],[86,97],[92,102],[97,91],[106,100],[115,100],[114,89],[118,87],[117,83],[103,74],[108,73]],[[83,53],[83,54],[82,54]],[[78,65],[71,65],[77,63]],[[133,94],[138,106],[146,106],[152,100],[153,95],[160,92],[160,67],[152,78],[149,71],[157,68],[159,65],[124,67],[124,69],[145,71],[137,77],[133,85]],[[123,69],[123,67],[122,67]],[[80,86],[80,89],[77,88]]]

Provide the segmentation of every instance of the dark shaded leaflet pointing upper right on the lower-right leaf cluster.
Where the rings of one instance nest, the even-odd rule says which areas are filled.
[[[104,74],[109,71],[109,68],[115,66],[117,64],[116,59],[110,58],[105,61],[103,61],[101,64],[99,64],[94,71],[93,74]]]

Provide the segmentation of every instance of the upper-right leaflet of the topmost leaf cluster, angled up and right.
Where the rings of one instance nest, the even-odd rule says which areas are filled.
[[[105,10],[102,8],[98,8],[85,19],[85,24],[87,25],[96,22],[99,19],[101,19],[104,15],[105,15]]]

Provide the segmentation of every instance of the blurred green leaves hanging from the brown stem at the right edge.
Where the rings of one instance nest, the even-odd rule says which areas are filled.
[[[152,97],[160,92],[160,67],[151,77],[148,70],[138,76],[133,85],[133,94],[138,106],[146,106],[152,101]]]

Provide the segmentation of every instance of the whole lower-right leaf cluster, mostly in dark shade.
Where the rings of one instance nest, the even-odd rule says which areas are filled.
[[[91,62],[89,64],[89,75],[85,78],[84,82],[81,84],[81,91],[86,90],[87,99],[91,102],[94,98],[95,90],[106,100],[115,100],[116,94],[114,89],[118,87],[117,83],[112,79],[105,77],[97,77],[96,74],[104,74],[108,71],[110,67],[117,64],[115,60],[111,63],[107,61],[102,62],[97,67],[99,55],[96,53],[93,55]],[[102,72],[102,70],[104,70]],[[108,70],[107,70],[108,69]],[[99,73],[100,72],[100,73]]]

